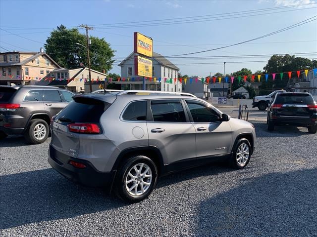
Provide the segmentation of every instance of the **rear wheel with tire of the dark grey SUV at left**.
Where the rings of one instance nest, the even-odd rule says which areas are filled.
[[[43,119],[32,119],[24,133],[25,139],[31,144],[40,144],[48,138],[50,128]]]

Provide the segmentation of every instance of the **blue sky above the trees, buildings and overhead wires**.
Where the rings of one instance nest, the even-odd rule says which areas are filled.
[[[129,28],[96,29],[91,35],[105,38],[116,50],[116,60],[122,60],[133,51],[133,32],[140,32],[154,40],[154,51],[162,55],[174,55],[201,51],[256,38],[282,29],[317,15],[317,4],[301,5],[275,11],[275,14],[254,13],[239,18],[213,20],[186,24],[142,26],[150,20],[214,15],[226,16],[230,12],[283,7],[298,4],[317,3],[314,0],[210,0],[210,1],[0,1],[0,27],[31,40],[45,42],[51,29],[63,24],[67,27],[80,24],[96,25],[124,22],[140,22]],[[309,8],[309,9],[305,9]],[[14,11],[12,11],[14,9]],[[270,11],[264,13],[271,13]],[[101,27],[101,26],[99,26]],[[28,28],[28,29],[24,29]],[[34,28],[34,29],[29,29]],[[45,29],[37,29],[45,28]],[[84,32],[83,30],[80,30]],[[39,51],[42,43],[22,39],[0,31],[0,46],[8,50]],[[296,42],[294,42],[296,41]],[[301,41],[301,42],[299,42]],[[180,45],[181,44],[181,45]],[[12,46],[14,45],[14,46]],[[185,46],[186,45],[186,46]],[[17,47],[18,46],[18,47]],[[1,51],[5,51],[1,48]],[[261,40],[190,56],[231,56],[254,54],[282,54],[317,52],[317,21],[285,31]],[[317,54],[305,55],[317,58]],[[241,68],[252,72],[262,70],[265,62],[230,63],[236,61],[265,61],[262,58],[229,59],[170,59],[188,75],[207,76],[223,72],[222,62],[226,61],[226,73]],[[218,63],[192,64],[191,63]],[[184,65],[186,64],[186,65]],[[113,66],[113,73],[119,67]]]

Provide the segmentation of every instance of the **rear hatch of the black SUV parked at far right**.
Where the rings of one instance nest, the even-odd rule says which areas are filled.
[[[311,117],[315,105],[314,98],[306,93],[279,94],[274,102],[277,115],[290,117]]]

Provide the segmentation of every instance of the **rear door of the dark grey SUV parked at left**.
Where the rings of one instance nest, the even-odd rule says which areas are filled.
[[[68,104],[62,101],[58,90],[50,89],[43,90],[43,103],[45,110],[50,115],[50,118],[56,115]]]

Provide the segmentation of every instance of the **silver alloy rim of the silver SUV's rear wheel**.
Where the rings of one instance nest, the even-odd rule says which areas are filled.
[[[125,188],[132,196],[140,196],[147,192],[152,183],[152,170],[145,163],[134,165],[125,178]]]

